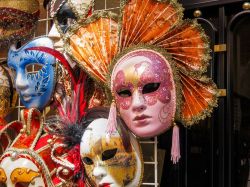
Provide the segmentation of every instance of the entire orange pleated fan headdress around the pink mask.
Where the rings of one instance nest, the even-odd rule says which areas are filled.
[[[181,101],[177,121],[193,125],[217,106],[217,88],[202,75],[210,60],[208,38],[195,20],[183,20],[175,0],[124,0],[121,19],[113,13],[94,13],[78,22],[66,37],[66,51],[101,85],[114,57],[132,46],[156,46],[170,54],[179,70]]]

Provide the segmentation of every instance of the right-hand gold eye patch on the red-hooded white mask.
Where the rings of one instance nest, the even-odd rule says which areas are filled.
[[[40,173],[37,171],[33,171],[28,168],[16,168],[12,171],[10,175],[11,182],[16,184],[18,182],[23,183],[31,183],[34,178],[40,177]]]

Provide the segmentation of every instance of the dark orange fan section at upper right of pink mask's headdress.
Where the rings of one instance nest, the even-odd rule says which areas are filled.
[[[153,44],[165,48],[186,71],[204,72],[210,49],[204,31],[196,22],[183,21]]]

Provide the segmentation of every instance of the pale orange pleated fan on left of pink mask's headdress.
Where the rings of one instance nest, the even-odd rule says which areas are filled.
[[[113,19],[99,17],[85,26],[79,23],[69,36],[69,54],[101,82],[107,82],[107,67],[117,52],[117,27]]]

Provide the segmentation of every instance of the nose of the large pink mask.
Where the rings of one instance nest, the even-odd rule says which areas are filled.
[[[132,110],[134,112],[142,112],[146,109],[147,105],[145,99],[139,91],[135,91],[132,95]]]

